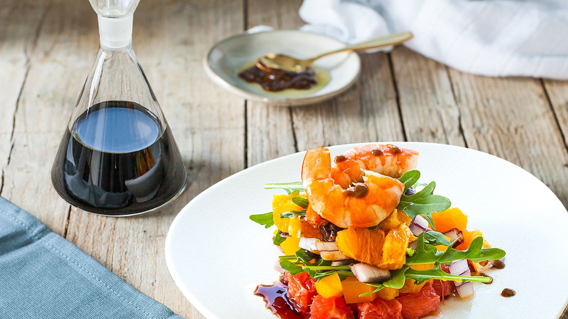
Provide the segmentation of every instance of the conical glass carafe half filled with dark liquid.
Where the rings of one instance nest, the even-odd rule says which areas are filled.
[[[101,49],[51,173],[63,199],[99,215],[153,211],[185,188],[181,154],[132,50],[138,2],[90,0]]]

